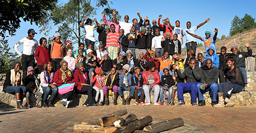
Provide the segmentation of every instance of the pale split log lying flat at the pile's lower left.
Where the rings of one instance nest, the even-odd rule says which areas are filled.
[[[74,132],[104,132],[105,129],[98,125],[74,124]]]

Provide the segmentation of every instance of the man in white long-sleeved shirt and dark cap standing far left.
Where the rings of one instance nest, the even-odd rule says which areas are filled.
[[[17,44],[14,45],[14,50],[20,55],[21,58],[21,66],[23,70],[23,76],[26,75],[26,70],[28,66],[33,66],[35,65],[35,58],[34,58],[34,47],[38,47],[38,42],[36,39],[34,39],[35,32],[34,29],[29,29],[28,30],[28,36],[22,38],[20,41],[18,41]],[[23,44],[23,52],[19,51],[18,47]]]

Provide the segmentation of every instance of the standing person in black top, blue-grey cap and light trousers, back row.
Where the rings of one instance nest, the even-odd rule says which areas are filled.
[[[138,53],[146,53],[146,40],[147,36],[145,35],[147,29],[143,26],[140,27],[140,32],[137,30],[136,37],[135,37],[135,59],[139,57]]]

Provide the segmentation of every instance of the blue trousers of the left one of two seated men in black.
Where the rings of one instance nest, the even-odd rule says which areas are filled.
[[[184,92],[190,92],[190,96],[192,99],[192,103],[196,103],[196,98],[197,98],[197,82],[180,82],[177,85],[177,94],[178,94],[178,99],[179,101],[184,102],[184,98],[183,98],[183,93]]]

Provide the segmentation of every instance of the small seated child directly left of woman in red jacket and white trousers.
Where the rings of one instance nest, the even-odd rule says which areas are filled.
[[[140,74],[140,68],[135,67],[134,74],[132,76],[132,86],[135,86],[134,97],[136,102],[133,105],[145,105],[145,95],[143,90],[143,77]],[[140,97],[139,97],[140,96]]]

